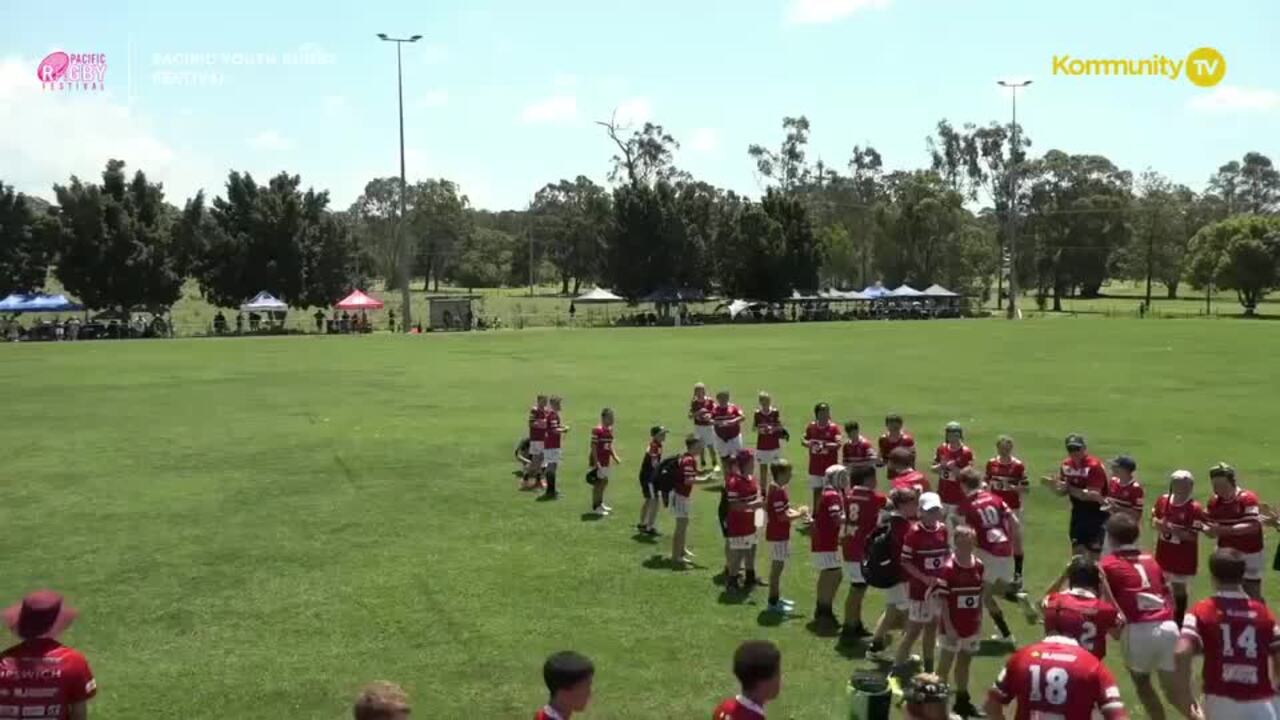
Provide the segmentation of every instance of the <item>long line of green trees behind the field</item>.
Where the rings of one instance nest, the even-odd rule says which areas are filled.
[[[38,290],[51,272],[90,307],[163,309],[189,278],[215,305],[269,290],[305,307],[371,279],[399,290],[407,265],[436,290],[598,283],[631,300],[678,288],[772,301],[879,281],[989,299],[1012,272],[1055,310],[1125,279],[1169,297],[1184,283],[1234,290],[1252,313],[1280,284],[1280,173],[1260,152],[1197,193],[1102,155],[1033,156],[1021,128],[1014,146],[1011,126],[941,120],[927,161],[890,172],[872,146],[844,167],[812,161],[809,120],[788,117],[776,145],[748,149],[753,199],[677,168],[680,143],[659,124],[599,126],[616,150],[612,187],[564,178],[524,209],[488,211],[426,179],[403,188],[403,223],[394,177],[346,210],[288,173],[259,184],[232,172],[218,197],[180,208],[120,160],[101,182],[55,186],[55,204],[0,182],[0,292]]]

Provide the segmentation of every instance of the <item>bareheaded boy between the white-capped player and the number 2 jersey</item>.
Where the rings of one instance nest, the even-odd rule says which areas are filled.
[[[942,603],[942,637],[938,639],[938,675],[946,682],[952,664],[956,702],[952,708],[961,717],[980,717],[969,697],[969,666],[982,646],[982,560],[973,553],[977,533],[969,525],[959,525],[951,534],[955,551],[942,565],[934,592]]]

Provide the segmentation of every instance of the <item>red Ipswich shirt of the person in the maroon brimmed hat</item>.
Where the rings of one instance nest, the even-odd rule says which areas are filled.
[[[58,641],[24,641],[0,653],[0,717],[65,720],[69,706],[95,694],[88,661]]]

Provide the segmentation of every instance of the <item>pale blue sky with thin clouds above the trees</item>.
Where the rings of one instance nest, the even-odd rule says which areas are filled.
[[[614,109],[664,124],[699,178],[755,193],[746,146],[776,145],[783,115],[809,117],[829,164],[872,143],[888,167],[918,167],[940,118],[1007,118],[1001,77],[1034,79],[1019,119],[1041,151],[1100,152],[1197,190],[1248,150],[1280,160],[1274,1],[4,4],[0,179],[42,196],[119,156],[179,202],[220,192],[229,169],[288,169],[346,208],[398,172],[396,55],[378,32],[425,36],[404,47],[410,178],[454,179],[493,209],[562,177],[604,182],[612,149],[591,120]],[[1051,74],[1053,54],[1206,45],[1228,61],[1213,88]],[[108,90],[42,91],[52,50],[105,53]]]

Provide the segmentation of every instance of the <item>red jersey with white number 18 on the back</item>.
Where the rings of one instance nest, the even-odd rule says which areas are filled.
[[[1009,659],[991,688],[1001,705],[1018,703],[1015,720],[1128,720],[1120,688],[1101,660],[1071,638],[1050,635]]]

